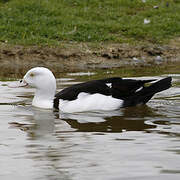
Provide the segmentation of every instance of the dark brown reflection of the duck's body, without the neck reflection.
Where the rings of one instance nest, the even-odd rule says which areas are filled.
[[[86,114],[68,114],[62,116],[72,128],[79,132],[122,132],[125,131],[141,131],[149,128],[156,128],[156,125],[146,123],[147,117],[154,117],[155,113],[147,106],[131,107],[116,112],[116,115],[106,114],[100,116],[97,114],[93,117]],[[92,118],[93,121],[92,122]],[[88,121],[90,119],[90,121]]]

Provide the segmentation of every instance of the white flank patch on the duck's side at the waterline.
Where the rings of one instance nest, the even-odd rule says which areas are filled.
[[[73,101],[60,99],[59,109],[62,112],[113,111],[122,107],[123,100],[102,94],[80,93]]]

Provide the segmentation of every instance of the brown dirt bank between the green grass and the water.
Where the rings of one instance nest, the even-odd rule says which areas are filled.
[[[0,76],[23,75],[35,66],[45,66],[55,74],[95,68],[129,66],[171,66],[180,64],[180,46],[87,43],[64,44],[60,47],[0,45]]]

